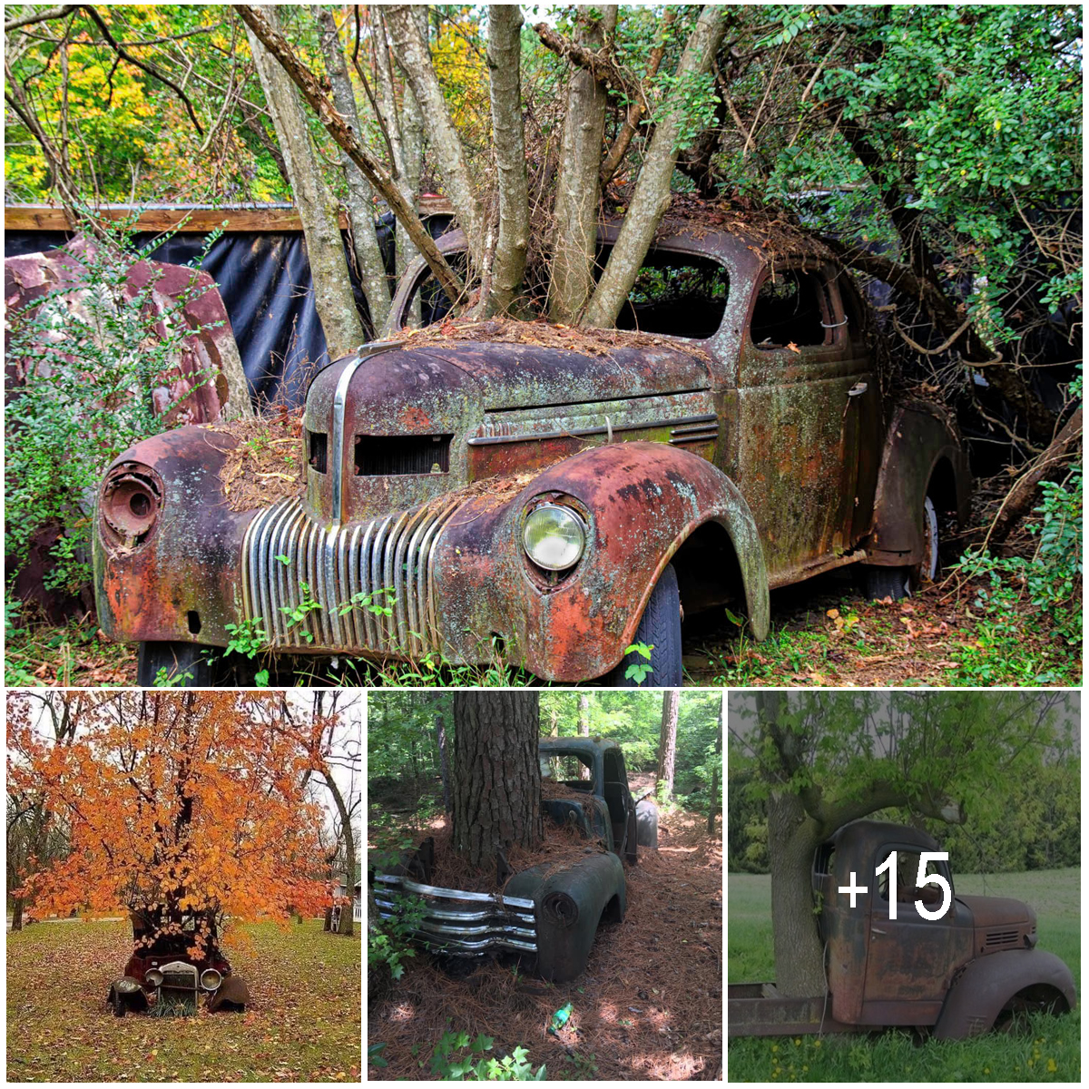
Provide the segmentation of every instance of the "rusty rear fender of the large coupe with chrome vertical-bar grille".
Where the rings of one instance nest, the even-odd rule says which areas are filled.
[[[956,425],[928,401],[897,406],[885,437],[873,498],[866,562],[909,566],[923,558],[922,504],[932,493],[940,511],[968,516],[971,474]]]

